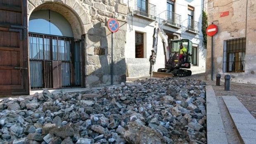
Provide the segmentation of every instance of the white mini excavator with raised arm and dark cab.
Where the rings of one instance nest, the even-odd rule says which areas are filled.
[[[156,63],[157,54],[157,40],[160,35],[165,56],[165,68],[159,68],[157,72],[152,72],[153,65]],[[180,59],[180,45],[187,48],[187,52],[183,53],[182,59]],[[191,76],[192,72],[187,69],[191,66],[191,51],[192,42],[188,39],[169,40],[168,36],[162,28],[158,26],[158,22],[155,23],[153,34],[153,47],[152,54],[149,57],[150,69],[149,74],[153,77],[172,77],[173,76]],[[153,74],[153,75],[152,75]]]

